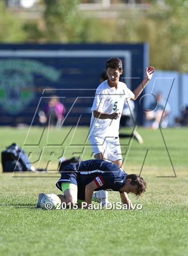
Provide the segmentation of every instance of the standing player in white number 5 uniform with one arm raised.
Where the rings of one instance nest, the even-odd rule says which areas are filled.
[[[122,155],[119,141],[120,117],[127,99],[136,100],[148,84],[155,71],[147,67],[145,78],[132,92],[127,85],[120,82],[123,66],[120,58],[110,58],[106,63],[108,80],[97,88],[91,108],[89,140],[96,159],[106,159],[115,165],[122,166]],[[128,196],[125,193],[125,200]],[[107,191],[94,194],[94,199],[107,203]]]

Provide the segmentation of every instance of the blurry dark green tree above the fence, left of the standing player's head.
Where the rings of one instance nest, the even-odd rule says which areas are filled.
[[[82,41],[84,20],[77,11],[78,0],[44,0],[45,38],[53,42]]]

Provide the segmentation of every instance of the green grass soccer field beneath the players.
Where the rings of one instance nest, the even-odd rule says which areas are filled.
[[[88,127],[73,129],[68,134],[69,130],[65,127],[45,131],[39,140],[42,128],[31,129],[25,150],[33,152],[30,156],[35,167],[47,166],[49,170],[56,170],[57,157],[63,152],[66,157],[91,158],[88,142],[85,149],[82,146]],[[1,128],[1,151],[13,142],[22,146],[27,131],[28,128]],[[128,130],[121,130],[125,131]],[[138,128],[137,131],[143,136],[143,145],[133,141],[129,149],[128,139],[121,139],[121,145],[126,158],[124,170],[128,174],[140,173],[145,153],[149,150],[141,171],[148,189],[140,198],[130,195],[133,203],[143,205],[141,211],[36,209],[38,193],[59,193],[55,186],[60,177],[58,172],[1,173],[0,255],[187,256],[188,132],[185,128],[162,130],[177,175],[173,177],[175,173],[160,130]],[[58,146],[63,141],[64,144]],[[51,152],[54,153],[51,155]],[[110,192],[109,200],[119,201],[119,193]]]

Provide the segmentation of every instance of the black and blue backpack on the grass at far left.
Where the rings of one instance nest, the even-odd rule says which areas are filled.
[[[3,172],[33,171],[30,159],[16,143],[1,152],[1,161]]]

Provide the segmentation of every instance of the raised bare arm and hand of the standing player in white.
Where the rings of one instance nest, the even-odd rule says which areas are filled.
[[[152,78],[154,72],[155,72],[154,67],[146,67],[145,78],[141,82],[141,84],[138,85],[138,87],[135,90],[133,90],[134,96],[131,98],[131,100],[136,100],[138,98],[138,96],[141,94],[141,92],[144,90],[145,86],[148,84],[148,82]]]

